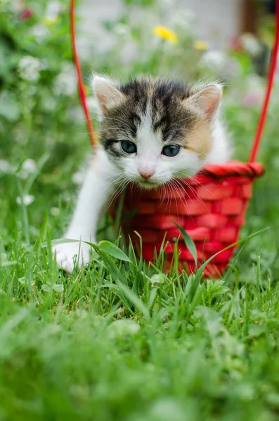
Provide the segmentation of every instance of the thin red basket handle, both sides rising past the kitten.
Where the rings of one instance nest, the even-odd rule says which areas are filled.
[[[82,82],[82,72],[79,65],[79,58],[77,55],[77,46],[76,46],[76,37],[74,31],[74,0],[71,0],[70,6],[70,25],[71,25],[71,37],[72,37],[72,51],[74,53],[74,65],[77,70],[77,83],[79,87],[79,97],[82,102],[82,107],[84,109],[84,115],[86,117],[86,124],[89,130],[91,145],[96,147],[96,135],[93,130],[93,124],[91,122],[89,109],[86,104],[86,94],[84,90],[84,84]],[[266,123],[266,116],[268,112],[268,105],[271,98],[271,91],[273,88],[273,81],[275,76],[275,71],[277,67],[277,58],[278,58],[278,48],[279,48],[279,0],[276,0],[276,19],[275,19],[275,40],[273,45],[273,51],[271,56],[271,65],[268,73],[268,81],[266,87],[266,95],[264,98],[264,104],[261,109],[261,114],[259,116],[259,122],[257,125],[257,130],[252,145],[252,150],[249,156],[249,162],[254,162],[257,159],[257,154],[259,152],[259,146],[261,143],[261,138],[264,132],[264,124]]]

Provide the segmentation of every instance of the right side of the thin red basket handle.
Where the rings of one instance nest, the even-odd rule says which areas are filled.
[[[273,51],[272,51],[272,56],[271,56],[271,65],[268,72],[266,96],[264,98],[264,104],[261,109],[261,114],[259,116],[257,131],[254,138],[254,143],[252,145],[252,150],[249,156],[249,162],[256,161],[257,154],[259,152],[261,137],[264,131],[264,124],[266,123],[269,100],[271,98],[271,91],[273,88],[274,75],[275,75],[275,71],[277,67],[278,48],[279,48],[279,0],[276,0],[275,41],[274,41],[274,46],[273,46]]]

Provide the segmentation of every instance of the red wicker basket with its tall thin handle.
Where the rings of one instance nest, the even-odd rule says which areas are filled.
[[[86,115],[91,143],[95,146],[96,142],[86,106],[75,45],[74,0],[71,0],[70,18],[79,93]],[[181,267],[186,267],[190,272],[196,269],[193,256],[182,241],[181,232],[176,224],[183,227],[195,241],[199,265],[238,240],[240,227],[245,223],[247,203],[252,196],[252,184],[254,179],[264,172],[262,164],[256,163],[255,160],[266,121],[276,69],[279,46],[278,20],[279,0],[276,0],[275,43],[271,56],[266,96],[248,163],[231,161],[223,165],[207,166],[194,178],[180,182],[181,187],[175,190],[168,188],[164,197],[160,195],[160,189],[145,192],[128,189],[126,192],[123,213],[136,209],[136,214],[123,225],[124,234],[127,239],[131,236],[136,250],[139,250],[140,239],[135,232],[141,235],[142,252],[145,260],[153,260],[155,250],[158,252],[162,247],[162,241],[164,241],[166,261],[171,262],[174,243],[179,241]],[[207,274],[219,275],[227,267],[232,255],[233,248],[219,253],[207,267]]]

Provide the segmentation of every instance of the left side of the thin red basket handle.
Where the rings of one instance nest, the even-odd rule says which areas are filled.
[[[79,87],[79,97],[82,102],[82,107],[84,109],[84,114],[86,117],[87,128],[89,130],[91,145],[93,147],[96,147],[96,135],[93,130],[93,124],[91,122],[89,109],[86,104],[86,94],[84,90],[84,84],[82,82],[82,71],[80,69],[79,57],[77,55],[76,36],[74,32],[74,0],[71,0],[71,6],[70,6],[70,25],[71,25],[71,37],[72,37],[72,51],[74,53],[74,65],[77,70],[77,83]]]

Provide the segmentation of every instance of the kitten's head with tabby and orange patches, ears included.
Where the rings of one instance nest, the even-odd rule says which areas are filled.
[[[145,188],[197,173],[212,149],[221,86],[133,79],[124,86],[93,77],[100,144],[126,180]]]

